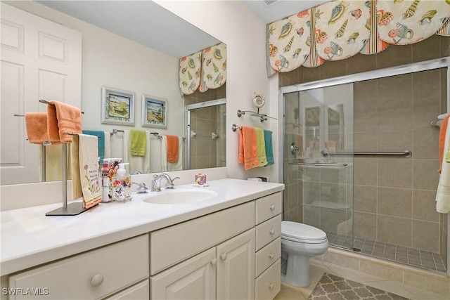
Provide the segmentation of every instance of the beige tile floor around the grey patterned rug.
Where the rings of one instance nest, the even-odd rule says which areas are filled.
[[[384,291],[404,296],[411,300],[449,300],[450,294],[437,294],[429,292],[409,285],[403,285],[399,282],[386,280],[377,276],[362,273],[349,268],[328,263],[325,261],[318,261],[311,259],[311,285],[309,287],[293,287],[281,282],[281,292],[279,292],[275,300],[307,300],[311,292],[316,287],[317,282],[321,279],[323,273],[329,273],[360,282],[370,287],[383,289]],[[342,299],[342,300],[356,300],[356,299]]]

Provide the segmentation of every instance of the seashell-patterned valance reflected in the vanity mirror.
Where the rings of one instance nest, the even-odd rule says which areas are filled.
[[[179,86],[181,94],[217,89],[226,81],[226,45],[206,48],[180,59]]]

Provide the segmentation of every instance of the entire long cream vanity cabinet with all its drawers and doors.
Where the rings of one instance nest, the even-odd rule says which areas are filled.
[[[26,269],[11,270],[13,263],[2,262],[2,267],[10,270],[1,276],[1,300],[274,299],[281,279],[279,186],[269,195],[262,189],[258,196],[243,196],[240,200],[239,195],[232,193],[231,197],[222,187],[223,184],[218,185],[217,190],[228,195],[227,201],[235,201],[233,204],[223,202],[203,213],[186,210],[192,216],[183,218],[176,215],[177,207],[164,207],[158,211],[159,219],[147,221],[147,215],[138,211],[145,210],[146,204],[131,202],[124,209],[129,209],[130,216],[141,219],[135,222],[138,227],[122,230],[117,242],[100,243],[86,252],[68,254],[56,261],[30,263]],[[159,213],[167,216],[161,219]],[[54,230],[56,219],[34,216],[34,212],[30,215],[41,223],[49,223],[47,231]],[[115,216],[113,209],[98,209],[96,217],[105,222],[102,218],[109,220],[111,215]],[[123,215],[121,210],[117,216]],[[4,216],[11,220],[18,218]],[[167,221],[166,217],[173,220]],[[21,230],[21,224],[14,230]],[[139,226],[143,228],[136,229]],[[129,238],[126,230],[130,230]],[[21,237],[30,237],[27,232],[20,232]],[[101,234],[95,235],[96,241],[101,238]],[[72,240],[75,243],[75,237]],[[53,249],[58,251],[57,247]],[[51,254],[42,252],[37,254],[38,258],[39,255]],[[20,261],[24,262],[25,259]]]

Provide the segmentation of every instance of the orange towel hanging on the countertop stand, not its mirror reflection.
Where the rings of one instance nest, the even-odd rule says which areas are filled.
[[[59,141],[72,143],[72,135],[64,133],[82,133],[81,110],[78,107],[58,101],[51,101],[51,103],[53,105],[47,105],[49,138],[56,138],[56,128],[58,128]]]

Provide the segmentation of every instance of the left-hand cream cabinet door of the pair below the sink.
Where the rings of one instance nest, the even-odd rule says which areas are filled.
[[[216,249],[212,248],[150,278],[150,299],[215,299]]]

